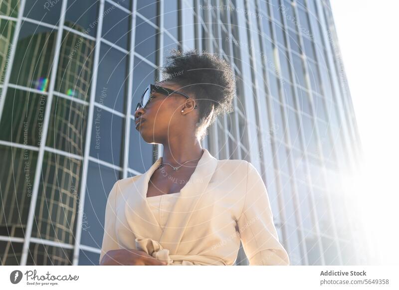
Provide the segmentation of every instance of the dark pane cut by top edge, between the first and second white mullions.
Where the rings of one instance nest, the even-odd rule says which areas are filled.
[[[56,24],[60,18],[62,1],[35,0],[25,1],[23,16],[40,22]]]

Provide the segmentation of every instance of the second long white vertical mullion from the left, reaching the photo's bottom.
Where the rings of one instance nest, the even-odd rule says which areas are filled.
[[[29,243],[30,243],[30,235],[32,233],[32,226],[33,226],[33,219],[34,219],[34,212],[36,207],[36,200],[37,194],[39,190],[39,183],[42,171],[42,164],[44,158],[44,148],[47,139],[47,132],[48,132],[48,124],[50,122],[50,114],[51,114],[51,105],[52,105],[52,98],[55,86],[55,78],[57,75],[57,67],[58,67],[58,59],[60,54],[61,48],[61,39],[62,39],[62,27],[64,25],[65,20],[65,12],[66,12],[66,1],[62,2],[61,6],[61,15],[60,20],[58,23],[58,31],[57,31],[57,38],[55,40],[55,47],[54,47],[54,59],[53,64],[51,66],[51,79],[50,79],[50,86],[48,89],[48,95],[46,100],[46,109],[44,112],[44,121],[43,121],[43,133],[40,138],[40,146],[39,146],[39,153],[37,156],[37,165],[35,168],[35,176],[33,181],[33,188],[32,188],[32,197],[31,202],[29,205],[29,214],[28,214],[28,221],[26,223],[26,231],[25,231],[25,241],[22,247],[22,255],[21,255],[21,266],[26,265],[28,250],[29,250]]]

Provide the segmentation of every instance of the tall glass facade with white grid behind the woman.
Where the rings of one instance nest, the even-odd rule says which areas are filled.
[[[234,112],[202,146],[258,169],[291,264],[367,264],[345,193],[360,148],[328,0],[0,0],[0,28],[2,265],[98,263],[109,191],[162,151],[133,111],[174,47],[232,65]]]

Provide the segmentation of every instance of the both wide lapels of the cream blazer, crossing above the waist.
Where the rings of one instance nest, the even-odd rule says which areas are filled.
[[[164,231],[147,202],[148,183],[153,172],[161,165],[162,157],[128,185],[129,196],[124,210],[127,223],[136,238],[159,241],[171,253],[176,253],[193,211],[216,169],[217,159],[206,148],[202,148],[202,151],[196,169],[172,206]]]

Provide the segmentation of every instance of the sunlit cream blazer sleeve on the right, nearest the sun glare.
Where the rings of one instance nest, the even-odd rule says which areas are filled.
[[[289,265],[288,254],[273,223],[266,186],[250,162],[247,162],[244,207],[237,226],[249,265]]]

